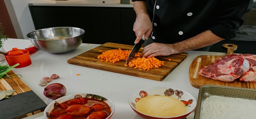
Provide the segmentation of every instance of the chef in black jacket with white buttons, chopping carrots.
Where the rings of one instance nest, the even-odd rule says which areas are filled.
[[[253,0],[132,0],[137,44],[145,35],[140,57],[167,56],[236,37],[242,16]]]

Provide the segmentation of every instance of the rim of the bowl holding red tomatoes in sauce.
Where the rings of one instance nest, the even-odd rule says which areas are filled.
[[[69,97],[69,96],[72,96],[72,95],[75,96],[75,95],[81,95],[81,94],[97,95],[97,96],[101,96],[101,97],[103,97],[103,98],[105,98],[105,99],[108,99],[108,100],[113,104],[113,110],[111,109],[111,113],[110,113],[109,116],[106,117],[105,119],[109,119],[109,118],[114,114],[114,112],[115,112],[115,104],[114,104],[114,102],[113,102],[112,100],[110,100],[110,99],[107,98],[106,96],[104,96],[104,95],[98,95],[98,94],[94,94],[94,93],[76,93],[76,94],[70,94],[70,95],[66,95],[66,96],[60,97],[60,98],[58,98],[58,99],[56,99],[56,100],[53,100],[51,103],[49,103],[49,104],[45,107],[45,109],[44,109],[44,118],[45,118],[45,119],[48,119],[47,116],[46,116],[47,108],[49,108],[51,105],[53,105],[53,104],[55,103],[55,101],[58,101],[58,100],[60,100],[60,99],[63,99],[63,98],[66,98],[66,97]],[[66,101],[68,101],[68,100],[66,100]],[[110,106],[110,105],[109,105],[109,106]]]

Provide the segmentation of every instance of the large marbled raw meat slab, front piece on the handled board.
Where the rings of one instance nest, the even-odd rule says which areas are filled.
[[[216,60],[212,65],[201,68],[199,75],[218,81],[232,82],[249,68],[249,62],[243,56],[231,54]]]

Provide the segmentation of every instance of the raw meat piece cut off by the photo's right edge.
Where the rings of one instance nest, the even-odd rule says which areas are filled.
[[[256,56],[253,54],[240,54],[248,60],[250,68],[239,78],[240,81],[256,82]]]

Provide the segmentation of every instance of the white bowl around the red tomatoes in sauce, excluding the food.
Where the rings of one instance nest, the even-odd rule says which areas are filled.
[[[74,97],[76,95],[80,95],[83,98],[87,97],[88,95],[94,95],[94,98],[97,97],[97,96],[100,96],[100,95],[95,95],[95,94],[71,94],[71,95],[68,95],[68,96],[64,96],[64,97],[58,98],[58,99],[54,100],[53,102],[51,102],[48,106],[46,106],[46,108],[44,109],[44,118],[48,119],[46,113],[47,112],[50,113],[53,110],[55,101],[60,104],[60,103],[66,102],[68,100],[74,99]],[[110,106],[110,108],[111,108],[110,115],[105,118],[105,119],[110,119],[111,116],[113,115],[114,111],[115,111],[115,105],[114,105],[114,103],[109,98],[106,98],[105,96],[100,96],[100,97],[105,98],[106,100],[104,102],[107,103]],[[89,97],[89,98],[91,98],[91,97]],[[97,99],[97,98],[95,98],[95,99]]]

